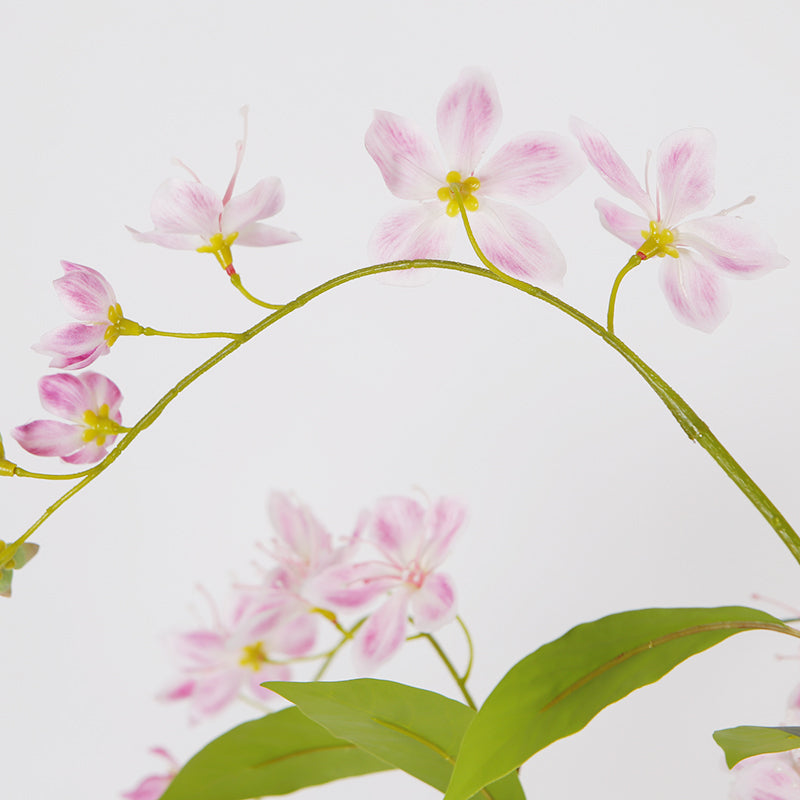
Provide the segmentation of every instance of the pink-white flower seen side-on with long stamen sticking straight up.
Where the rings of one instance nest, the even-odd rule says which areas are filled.
[[[150,206],[154,228],[144,233],[128,228],[135,239],[175,250],[213,253],[220,266],[232,275],[234,242],[269,247],[300,238],[296,233],[259,222],[283,208],[283,184],[278,178],[263,178],[249,191],[233,197],[247,144],[247,107],[242,109],[242,116],[244,136],[236,143],[236,164],[222,199],[186,167],[193,180],[170,178],[161,184]]]

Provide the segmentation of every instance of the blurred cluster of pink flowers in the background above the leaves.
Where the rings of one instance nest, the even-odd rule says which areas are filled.
[[[273,493],[276,537],[265,548],[273,566],[259,585],[237,587],[226,620],[215,611],[211,627],[172,637],[181,676],[162,698],[188,700],[195,720],[245,690],[268,699],[260,684],[288,680],[290,662],[309,657],[324,622],[337,636],[352,638],[357,669],[373,672],[400,649],[409,618],[422,632],[454,619],[455,587],[439,567],[464,514],[450,498],[425,507],[413,498],[386,497],[335,543],[307,507]],[[362,547],[371,547],[373,557],[357,560]],[[348,629],[342,614],[361,619]]]

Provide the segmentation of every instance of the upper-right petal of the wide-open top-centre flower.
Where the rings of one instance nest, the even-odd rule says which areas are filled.
[[[570,139],[526,133],[503,145],[480,168],[480,194],[512,203],[541,203],[583,172],[584,160]]]

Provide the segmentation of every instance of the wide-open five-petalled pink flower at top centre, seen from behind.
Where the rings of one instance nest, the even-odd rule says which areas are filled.
[[[491,158],[481,157],[500,126],[497,88],[486,73],[464,70],[444,93],[436,114],[442,160],[409,120],[376,111],[365,144],[389,191],[418,205],[382,220],[370,242],[380,261],[446,258],[458,216],[450,190],[458,184],[485,255],[518,278],[558,281],[564,256],[547,229],[506,202],[534,204],[552,197],[583,170],[580,153],[555,133],[526,133]]]

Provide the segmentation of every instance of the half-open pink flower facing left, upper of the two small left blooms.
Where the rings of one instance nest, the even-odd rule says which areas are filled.
[[[52,356],[56,369],[82,369],[108,353],[122,334],[137,335],[142,327],[122,315],[114,290],[96,270],[62,261],[64,275],[53,281],[61,302],[80,322],[46,333],[33,349]]]

